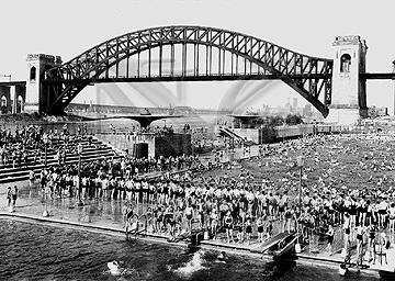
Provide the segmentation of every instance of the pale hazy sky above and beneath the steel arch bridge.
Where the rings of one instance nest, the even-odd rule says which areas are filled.
[[[395,58],[394,1],[214,1],[214,0],[127,0],[127,1],[4,1],[1,5],[0,75],[12,75],[13,80],[24,80],[25,57],[29,53],[60,55],[64,61],[71,59],[93,45],[136,30],[191,24],[223,27],[253,35],[306,55],[332,58],[331,43],[338,35],[361,35],[366,40],[370,72],[392,71]],[[3,79],[0,77],[0,79]],[[287,98],[300,97],[281,82],[251,82],[244,93],[260,90],[244,106],[262,103],[278,105]],[[148,91],[177,91],[187,94],[187,103],[198,108],[217,108],[226,92],[240,87],[238,82],[194,82],[177,87],[176,83],[146,87],[121,85],[114,92],[125,98],[113,98],[95,87],[88,88],[76,101],[93,100],[116,103],[129,102],[149,105]],[[388,106],[393,110],[394,87],[392,81],[368,83],[369,105]],[[242,97],[238,98],[242,100]],[[302,100],[301,100],[302,101]],[[166,100],[158,101],[159,105]],[[177,103],[169,102],[169,103]],[[223,102],[224,103],[224,102]],[[225,101],[226,103],[226,101]],[[157,104],[157,105],[158,105]],[[177,105],[177,104],[172,104]]]

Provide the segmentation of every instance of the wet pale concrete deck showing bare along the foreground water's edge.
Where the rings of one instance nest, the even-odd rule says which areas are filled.
[[[0,187],[0,190],[4,187]],[[33,190],[33,191],[32,191]],[[89,201],[83,206],[78,206],[74,199],[54,199],[47,206],[34,193],[34,188],[30,191],[25,191],[16,202],[15,212],[9,212],[5,200],[0,202],[0,218],[15,220],[24,223],[38,223],[53,227],[67,227],[76,231],[88,231],[92,233],[111,235],[117,237],[125,237],[125,231],[123,227],[122,217],[120,216],[119,207],[120,202],[113,201]],[[47,207],[50,216],[44,217],[43,212]],[[98,209],[100,211],[98,211]],[[184,241],[169,243],[168,236],[163,234],[144,233],[138,235],[138,239],[147,243],[159,243],[169,246],[187,248],[188,245]],[[247,255],[255,258],[263,258],[267,260],[272,259],[271,256],[266,254],[255,252],[253,248],[259,246],[255,240],[251,244],[235,244],[226,243],[225,239],[217,240],[203,240],[201,247],[206,250],[226,251],[233,255]],[[339,268],[339,265],[343,262],[343,258],[340,255],[340,250],[332,256],[329,256],[321,246],[320,250],[309,251],[308,249],[301,254],[295,254],[294,258],[297,262],[303,262],[311,266],[327,266]],[[394,255],[395,256],[395,255]],[[395,265],[395,260],[388,259],[388,266]],[[384,265],[383,265],[384,266]],[[387,266],[386,266],[387,267]],[[381,267],[371,267],[363,270],[365,273],[377,273]],[[385,267],[383,267],[385,268]]]

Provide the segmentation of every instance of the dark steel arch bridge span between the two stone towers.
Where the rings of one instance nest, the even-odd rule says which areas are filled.
[[[84,87],[99,82],[279,79],[327,116],[332,65],[332,59],[227,30],[153,27],[103,42],[46,70],[41,111],[59,114]]]

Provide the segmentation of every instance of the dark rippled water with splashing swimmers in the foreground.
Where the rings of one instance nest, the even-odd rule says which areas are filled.
[[[357,273],[341,278],[334,268],[232,255],[223,263],[217,255],[0,220],[0,280],[377,280]],[[112,260],[120,261],[124,276],[108,272]]]

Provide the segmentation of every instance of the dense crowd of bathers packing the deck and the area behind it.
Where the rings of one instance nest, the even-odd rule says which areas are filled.
[[[41,149],[41,134],[37,127],[23,128],[15,136],[1,132],[0,140],[5,150],[22,143],[29,149]],[[49,132],[48,137],[63,138],[69,149],[78,143],[67,134]],[[33,140],[21,142],[24,138]],[[363,142],[370,150],[364,150]],[[83,162],[80,178],[77,165],[59,161],[57,167],[43,169],[40,186],[52,198],[124,202],[125,224],[135,231],[144,224],[147,232],[176,238],[199,228],[204,229],[205,238],[247,245],[289,232],[300,234],[303,243],[313,236],[325,239],[329,255],[341,240],[345,251],[357,244],[361,256],[369,252],[374,258],[375,245],[388,247],[388,233],[395,235],[395,189],[387,176],[395,169],[395,159],[388,149],[390,139],[377,135],[315,135],[261,145],[252,161],[266,171],[263,176],[221,165],[218,158],[226,150],[215,153],[218,165],[211,172],[202,170],[198,157],[184,155]],[[250,157],[251,150],[242,154]],[[300,167],[295,154],[303,154],[313,165]],[[343,164],[340,155],[352,155],[358,161]],[[193,168],[199,169],[192,172]],[[154,171],[160,171],[158,177],[145,177]],[[347,177],[358,177],[366,184],[347,186]],[[139,203],[145,205],[143,213],[136,211]],[[341,237],[336,235],[339,229]]]

